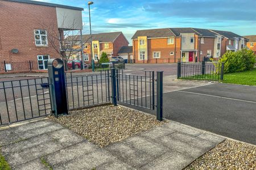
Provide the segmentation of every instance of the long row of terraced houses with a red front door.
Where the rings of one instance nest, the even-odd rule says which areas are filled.
[[[139,30],[132,40],[137,63],[196,62],[204,57],[217,60],[226,50],[239,50],[245,43],[235,33],[200,28]]]

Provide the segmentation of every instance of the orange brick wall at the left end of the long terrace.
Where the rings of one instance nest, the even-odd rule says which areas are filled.
[[[163,39],[147,39],[148,60],[144,63],[173,63],[180,59],[180,37],[176,37],[174,44],[167,44],[167,38]],[[170,52],[175,53],[176,41],[176,56],[170,55]],[[153,52],[160,52],[160,58],[153,58]],[[138,40],[133,40],[133,56],[136,63],[143,63],[138,56]]]

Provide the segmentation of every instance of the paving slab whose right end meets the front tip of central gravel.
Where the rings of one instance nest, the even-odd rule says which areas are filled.
[[[52,165],[52,167],[56,167],[57,164],[64,164],[65,162],[79,158],[79,156],[89,154],[97,150],[100,150],[100,148],[90,142],[84,141],[77,145],[46,155],[44,156],[44,159],[47,163]]]

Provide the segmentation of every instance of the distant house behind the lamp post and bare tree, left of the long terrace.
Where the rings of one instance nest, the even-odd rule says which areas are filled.
[[[90,35],[82,35],[84,42],[84,60],[91,62]],[[122,32],[106,32],[92,35],[92,56],[94,61],[100,59],[101,54],[105,52],[108,57],[118,56],[118,51],[122,46],[128,46],[129,42]]]

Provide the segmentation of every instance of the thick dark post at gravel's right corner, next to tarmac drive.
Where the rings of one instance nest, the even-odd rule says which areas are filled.
[[[158,71],[156,75],[156,118],[163,120],[163,71]]]

